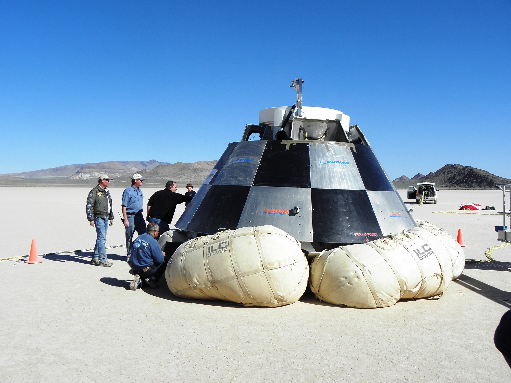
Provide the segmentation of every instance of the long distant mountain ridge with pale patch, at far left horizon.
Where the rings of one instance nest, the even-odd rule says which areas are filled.
[[[51,167],[50,169],[35,170],[32,172],[0,174],[0,177],[69,179],[93,179],[100,175],[120,177],[126,174],[136,173],[142,169],[151,170],[161,164],[166,165],[169,163],[156,160],[91,162]]]

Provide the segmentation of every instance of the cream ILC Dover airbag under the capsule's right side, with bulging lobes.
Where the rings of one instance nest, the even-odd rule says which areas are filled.
[[[322,301],[360,308],[441,296],[464,267],[458,243],[443,229],[417,222],[403,233],[323,251],[309,283]]]

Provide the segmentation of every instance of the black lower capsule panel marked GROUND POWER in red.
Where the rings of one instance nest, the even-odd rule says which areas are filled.
[[[363,243],[382,235],[365,190],[313,188],[311,200],[313,242]]]

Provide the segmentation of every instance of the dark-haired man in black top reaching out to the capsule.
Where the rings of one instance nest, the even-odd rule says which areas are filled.
[[[169,181],[165,184],[165,189],[154,193],[147,203],[146,221],[158,224],[161,233],[170,230],[169,224],[174,217],[176,205],[190,202],[193,198],[176,193],[176,189],[176,183]]]

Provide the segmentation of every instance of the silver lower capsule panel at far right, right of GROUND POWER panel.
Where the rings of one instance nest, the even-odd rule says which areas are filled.
[[[371,201],[383,235],[400,233],[416,226],[396,192],[367,190],[367,196]]]

